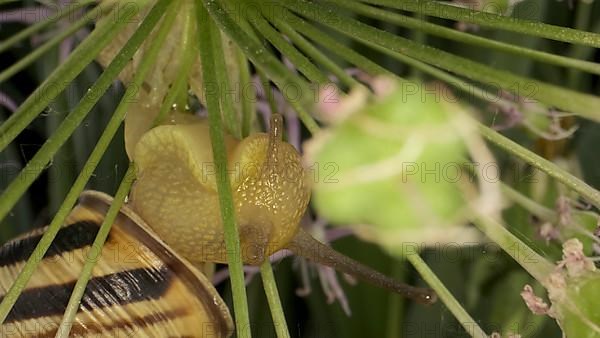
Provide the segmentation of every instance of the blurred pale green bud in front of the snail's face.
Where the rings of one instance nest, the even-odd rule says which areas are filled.
[[[305,145],[314,207],[388,248],[476,242],[466,226],[475,189],[463,171],[464,138],[475,129],[464,109],[444,87],[381,78],[372,86],[383,94],[371,102],[355,91],[340,99],[340,111],[328,104],[334,125]]]

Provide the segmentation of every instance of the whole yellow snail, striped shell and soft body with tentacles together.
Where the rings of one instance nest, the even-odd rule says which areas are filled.
[[[75,336],[227,337],[233,331],[227,307],[200,272],[204,263],[227,262],[208,124],[190,116],[171,121],[136,136],[129,155],[137,180],[84,293]],[[268,134],[241,141],[226,135],[225,145],[245,264],[289,249],[417,302],[435,302],[432,290],[388,278],[300,228],[310,187],[299,153],[282,139],[281,116],[274,115]],[[111,202],[100,192],[81,195],[5,320],[2,336],[54,335]],[[5,292],[43,231],[0,248]]]

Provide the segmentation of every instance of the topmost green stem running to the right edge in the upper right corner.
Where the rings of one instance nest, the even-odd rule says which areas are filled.
[[[538,36],[555,41],[600,47],[600,35],[577,29],[559,27],[541,22],[517,19],[488,12],[452,6],[430,0],[362,0],[370,4],[387,6],[408,12],[474,23],[483,27]]]

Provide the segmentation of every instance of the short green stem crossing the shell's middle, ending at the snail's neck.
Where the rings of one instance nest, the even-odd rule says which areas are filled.
[[[106,242],[106,238],[108,237],[108,233],[114,223],[119,211],[121,210],[121,206],[125,201],[125,197],[129,193],[129,189],[135,180],[135,164],[130,163],[127,172],[125,173],[125,177],[121,181],[119,185],[119,189],[115,194],[115,199],[110,205],[104,220],[102,221],[102,225],[98,230],[98,234],[96,235],[96,239],[94,239],[94,243],[92,244],[91,250],[87,255],[87,259],[81,273],[79,274],[79,279],[77,279],[77,283],[75,283],[75,287],[73,288],[73,293],[71,294],[71,298],[69,298],[69,303],[67,304],[67,308],[65,310],[65,314],[62,318],[62,321],[59,325],[59,329],[56,333],[57,338],[67,338],[69,337],[69,332],[71,331],[71,327],[73,326],[73,322],[75,321],[75,316],[79,311],[79,305],[81,303],[81,297],[85,292],[85,288],[87,283],[90,280],[92,275],[92,270],[98,261],[98,258],[102,256],[102,248],[104,247],[104,243]],[[90,256],[91,254],[91,256]]]

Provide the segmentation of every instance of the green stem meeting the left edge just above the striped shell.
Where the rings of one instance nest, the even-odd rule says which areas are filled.
[[[113,83],[114,79],[121,70],[127,65],[140,45],[150,34],[158,20],[164,14],[169,1],[159,1],[153,10],[146,16],[140,27],[125,43],[119,54],[111,61],[105,71],[100,75],[94,85],[79,101],[79,104],[63,120],[60,126],[53,133],[40,150],[33,156],[19,175],[8,185],[0,199],[0,220],[6,217],[6,214],[12,209],[15,203],[40,175],[46,166],[52,160],[54,154],[60,149],[65,141],[73,134],[73,131],[79,126],[81,121],[87,116],[93,106],[98,102],[103,93]],[[150,15],[152,14],[152,15]]]

